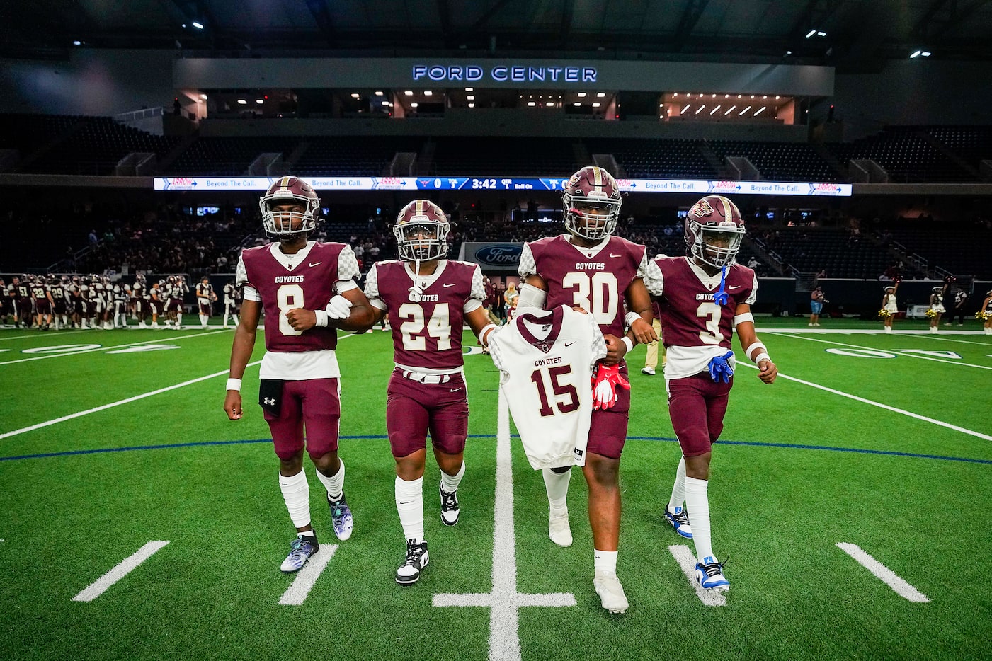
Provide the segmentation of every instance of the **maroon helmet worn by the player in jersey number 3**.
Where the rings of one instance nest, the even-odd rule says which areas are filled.
[[[717,269],[731,266],[743,238],[740,209],[722,195],[706,195],[685,216],[685,248],[703,264]]]

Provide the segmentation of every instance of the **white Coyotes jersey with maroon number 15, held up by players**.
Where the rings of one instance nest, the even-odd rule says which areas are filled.
[[[592,369],[606,356],[595,317],[528,308],[492,334],[489,352],[531,466],[584,466]]]

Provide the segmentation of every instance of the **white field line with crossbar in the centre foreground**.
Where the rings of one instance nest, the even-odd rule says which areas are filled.
[[[502,390],[496,422],[496,506],[493,529],[493,589],[485,594],[434,595],[434,606],[488,606],[490,661],[521,658],[517,611],[522,606],[575,606],[570,593],[522,595],[517,592],[513,527],[513,465],[510,411]]]

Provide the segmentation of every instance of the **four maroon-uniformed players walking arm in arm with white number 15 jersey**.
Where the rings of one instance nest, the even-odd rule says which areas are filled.
[[[726,197],[703,197],[686,218],[686,256],[649,260],[644,246],[613,234],[622,197],[608,172],[579,169],[562,198],[566,233],[524,245],[516,315],[499,328],[483,306],[479,267],[445,259],[450,227],[433,202],[418,199],[403,208],[393,228],[400,259],[373,265],[362,290],[350,247],[309,239],[320,210],[309,183],[285,176],[262,196],[265,229],[275,241],[245,250],[238,262],[243,304],[224,410],[232,420],[244,414],[241,380],[264,310],[271,323],[265,324],[259,403],[280,460],[280,489],[297,528],[284,572],[301,569],[318,548],[305,450],[326,490],[335,536],[351,535],[354,521],[338,457],[337,329],[364,332],[388,315],[395,353],[386,424],[406,541],[397,583],[416,583],[430,561],[423,495],[429,432],[441,476],[441,522],[451,526],[459,519],[457,489],[466,472],[468,429],[461,338],[467,325],[503,374],[501,388],[511,400],[528,457],[542,469],[549,537],[559,546],[572,542],[565,503],[571,468],[581,467],[593,538],[593,587],[610,612],[629,606],[617,576],[620,460],[630,410],[624,356],[635,344],[664,344],[669,411],[682,447],[664,518],[693,540],[698,584],[729,589],[712,549],[707,487],[711,446],[722,430],[733,385],[735,330],[759,379],[771,384],[777,375],[750,312],[757,279],[735,263],[745,232],[740,211]],[[661,339],[653,302],[665,329]],[[576,345],[573,336],[584,341]],[[589,381],[574,381],[578,374],[592,375],[591,397]],[[519,381],[512,383],[524,386],[508,386],[514,378]],[[525,434],[531,426],[571,431]]]

